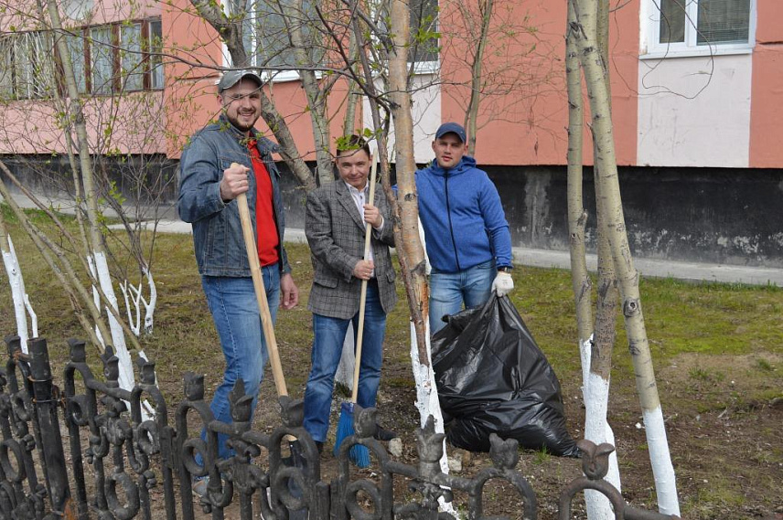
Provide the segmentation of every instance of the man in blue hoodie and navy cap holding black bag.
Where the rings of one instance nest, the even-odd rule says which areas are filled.
[[[430,331],[443,317],[504,296],[511,279],[511,234],[498,189],[467,155],[465,129],[442,124],[433,141],[435,159],[416,172],[419,218],[430,273]]]

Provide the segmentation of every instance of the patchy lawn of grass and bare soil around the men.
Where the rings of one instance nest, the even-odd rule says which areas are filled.
[[[60,377],[66,340],[84,338],[70,302],[13,218],[5,213],[15,240],[39,334],[48,339]],[[35,217],[41,225],[42,219]],[[64,245],[63,239],[60,239]],[[311,315],[306,310],[312,269],[306,245],[289,245],[300,288],[300,305],[281,311],[275,327],[289,392],[301,397],[309,369]],[[192,241],[185,235],[156,238],[152,270],[158,304],[155,331],[144,337],[146,355],[156,362],[166,400],[182,396],[186,371],[206,376],[208,395],[220,382],[222,355],[201,292]],[[511,300],[548,357],[563,387],[568,429],[580,438],[581,367],[576,346],[574,296],[568,271],[517,266]],[[138,281],[135,281],[138,282]],[[409,324],[402,283],[401,302],[389,317],[381,380],[381,420],[413,445],[417,423],[409,357]],[[683,517],[780,518],[783,497],[783,290],[736,284],[693,284],[643,279],[640,291],[658,378],[660,400]],[[655,508],[641,410],[633,370],[618,316],[613,355],[609,422],[617,437],[623,493],[632,504]],[[5,271],[0,274],[0,333],[16,324]],[[99,366],[97,356],[93,363]],[[256,427],[274,424],[274,386],[267,371]],[[325,455],[325,461],[327,456]],[[471,472],[487,463],[472,459]],[[326,463],[326,462],[325,462]],[[520,471],[539,493],[541,518],[553,518],[557,493],[579,474],[578,463],[541,452],[524,452]],[[489,512],[488,512],[489,513]]]

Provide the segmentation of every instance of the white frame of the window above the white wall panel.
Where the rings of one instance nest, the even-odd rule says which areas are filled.
[[[696,23],[699,0],[688,0],[685,12],[685,41],[660,43],[660,2],[642,0],[639,10],[641,28],[640,59],[684,58],[689,56],[720,56],[750,54],[756,45],[756,0],[750,0],[747,43],[711,43],[696,45]]]

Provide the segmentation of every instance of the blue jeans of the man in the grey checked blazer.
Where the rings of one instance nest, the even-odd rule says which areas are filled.
[[[359,330],[359,313],[343,320],[313,314],[313,368],[305,389],[305,429],[313,440],[327,440],[329,411],[332,408],[332,391],[338,370],[342,345],[353,322],[354,334]],[[364,337],[361,345],[359,368],[359,397],[362,408],[375,406],[375,396],[381,384],[383,336],[386,334],[386,314],[383,313],[377,283],[367,284],[367,302],[364,309]],[[354,335],[354,344],[356,335]]]

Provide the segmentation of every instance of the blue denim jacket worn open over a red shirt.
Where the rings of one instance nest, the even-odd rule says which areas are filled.
[[[272,201],[277,234],[281,273],[290,272],[283,247],[285,228],[283,196],[280,194],[280,172],[272,160],[277,144],[261,137],[255,129],[258,150],[272,180]],[[179,218],[193,224],[193,245],[196,249],[198,273],[202,276],[251,276],[244,239],[242,239],[239,207],[236,199],[224,203],[220,198],[220,179],[231,163],[247,166],[252,171],[250,154],[244,133],[235,128],[225,115],[218,122],[204,127],[190,139],[179,161]],[[250,186],[247,202],[255,229],[255,175],[248,175]]]

